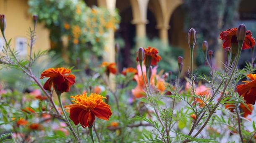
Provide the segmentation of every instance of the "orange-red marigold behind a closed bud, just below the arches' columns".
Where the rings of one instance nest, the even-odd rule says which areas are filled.
[[[144,64],[146,64],[145,63],[147,61],[145,60],[146,58],[149,58],[151,60],[150,65],[157,65],[157,62],[162,60],[161,56],[157,55],[158,50],[156,48],[153,48],[153,47],[148,47],[147,49],[144,48],[144,52],[145,52]],[[136,60],[138,61],[138,57],[136,58]]]

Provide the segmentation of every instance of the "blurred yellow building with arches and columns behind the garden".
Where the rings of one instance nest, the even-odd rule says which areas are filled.
[[[162,44],[170,45],[178,50],[175,56],[183,55],[184,68],[189,65],[189,50],[187,31],[195,28],[198,32],[198,45],[208,40],[210,49],[215,49],[216,66],[222,66],[225,54],[219,41],[219,33],[232,28],[239,23],[245,23],[247,29],[256,32],[256,1],[255,0],[84,0],[86,5],[105,7],[110,11],[118,10],[121,20],[120,28],[110,30],[107,38],[108,61],[115,61],[114,44],[120,43],[119,60],[122,67],[134,63],[132,56],[135,48],[147,45],[153,38],[158,38]],[[0,13],[6,15],[6,36],[13,38],[12,45],[21,53],[26,53],[26,31],[33,25],[31,14],[28,13],[28,0],[0,0]],[[44,28],[44,23],[37,27],[37,50],[51,49],[50,33]],[[137,40],[136,40],[137,39]],[[120,42],[121,41],[121,42]],[[0,38],[0,45],[3,39]],[[160,45],[159,45],[160,46]],[[200,51],[195,51],[196,65],[200,65]],[[246,53],[246,51],[244,51]],[[199,58],[198,58],[199,56]],[[168,58],[168,57],[165,57]],[[243,57],[242,57],[243,58]],[[248,60],[248,58],[244,58]],[[242,62],[241,62],[242,63]],[[185,71],[185,70],[184,70]]]

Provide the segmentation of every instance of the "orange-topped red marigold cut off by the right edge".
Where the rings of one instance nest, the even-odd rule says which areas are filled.
[[[239,95],[246,100],[246,103],[254,105],[256,100],[256,74],[248,74],[247,77],[251,81],[243,81],[245,84],[238,85],[236,89]]]

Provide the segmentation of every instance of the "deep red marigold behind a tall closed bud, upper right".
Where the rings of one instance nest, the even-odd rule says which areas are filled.
[[[225,40],[222,47],[223,48],[231,47],[231,43],[238,44],[236,34],[237,34],[237,28],[228,29],[220,33],[220,39]],[[255,39],[252,38],[251,31],[247,30],[246,38],[243,41],[243,49],[252,48],[254,45],[255,45]]]

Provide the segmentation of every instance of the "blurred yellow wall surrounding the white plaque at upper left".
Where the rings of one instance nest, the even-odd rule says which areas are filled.
[[[6,17],[5,35],[7,39],[12,38],[11,47],[15,48],[15,39],[23,37],[29,39],[27,30],[33,27],[32,15],[28,13],[29,5],[27,0],[0,0],[0,14]],[[36,28],[37,41],[34,51],[50,49],[49,31],[43,24],[38,24]],[[0,37],[2,35],[0,34]],[[29,41],[28,41],[29,42]],[[27,49],[29,53],[29,49]]]

